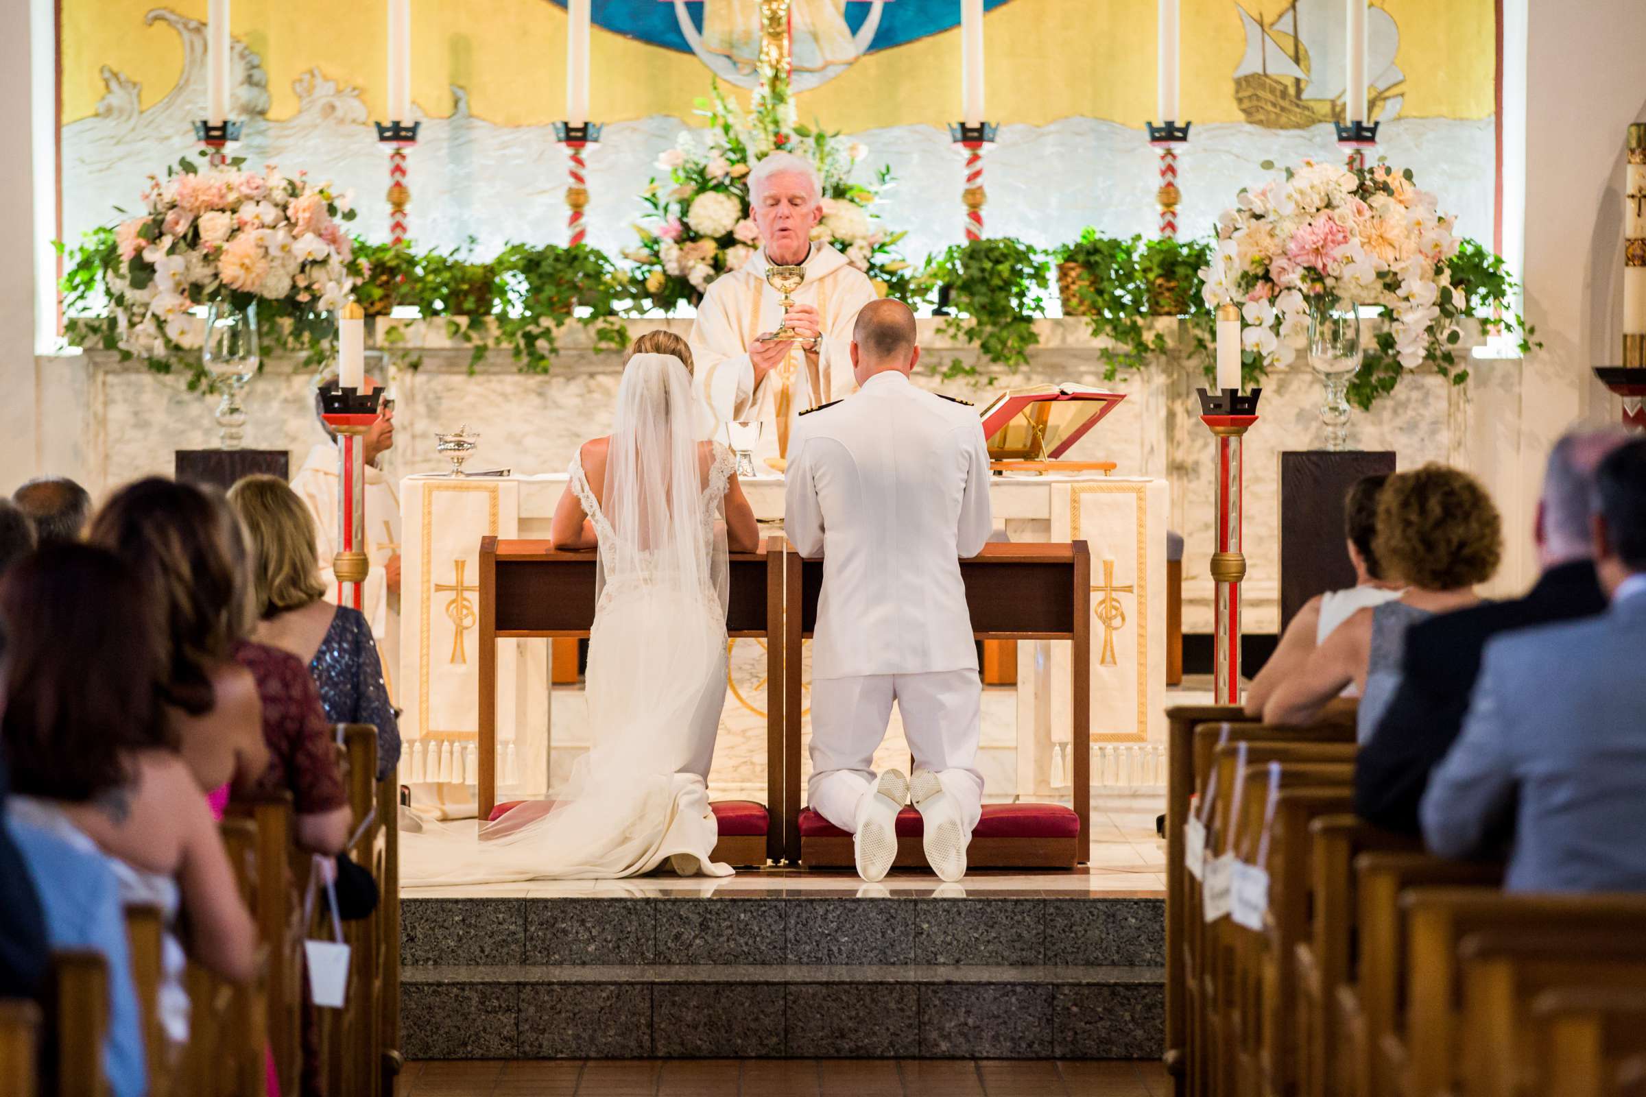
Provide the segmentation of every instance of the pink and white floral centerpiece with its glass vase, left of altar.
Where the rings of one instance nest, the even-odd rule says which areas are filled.
[[[349,299],[354,219],[349,196],[303,173],[244,160],[212,166],[184,156],[150,176],[143,212],[87,235],[64,278],[64,308],[104,298],[112,327],[71,319],[69,339],[99,339],[156,372],[189,363],[189,385],[221,393],[224,447],[240,442],[240,391],[260,362],[260,334],[277,345],[326,354],[337,308]],[[199,314],[206,314],[201,324]],[[280,321],[280,324],[272,324]]]

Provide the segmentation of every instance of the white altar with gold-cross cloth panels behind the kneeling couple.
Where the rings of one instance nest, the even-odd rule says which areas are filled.
[[[566,474],[413,475],[402,482],[402,780],[453,814],[472,811],[479,729],[479,546],[482,536],[543,538]],[[762,533],[782,530],[783,479],[742,480]],[[1091,546],[1091,742],[1106,763],[1095,781],[1157,783],[1165,707],[1165,480],[1123,475],[996,474],[996,539]],[[546,640],[502,640],[497,651],[497,785],[502,796],[543,793],[588,747],[581,687],[550,681]],[[1068,643],[1017,643],[1017,681],[984,692],[979,768],[986,799],[1070,794]],[[711,794],[760,799],[765,789],[765,655],[734,640]],[[802,663],[803,687],[810,666]],[[802,709],[802,738],[810,715]],[[449,757],[449,760],[448,760]],[[463,758],[459,763],[458,758]],[[892,717],[876,765],[907,765]],[[431,768],[433,766],[433,768]],[[810,776],[803,763],[802,780]]]

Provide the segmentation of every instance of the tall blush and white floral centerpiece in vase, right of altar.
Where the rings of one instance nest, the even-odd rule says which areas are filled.
[[[1491,285],[1453,285],[1458,248],[1453,219],[1417,189],[1411,169],[1304,161],[1282,179],[1239,192],[1234,209],[1218,217],[1216,250],[1200,273],[1210,308],[1241,306],[1249,363],[1286,363],[1294,344],[1309,339],[1310,365],[1327,391],[1320,418],[1330,447],[1341,449],[1348,400],[1365,408],[1401,370],[1424,363],[1462,380],[1455,322],[1473,306],[1501,304],[1506,280],[1500,265]],[[1478,250],[1465,262],[1476,265]],[[1369,349],[1360,306],[1379,306],[1391,321]]]

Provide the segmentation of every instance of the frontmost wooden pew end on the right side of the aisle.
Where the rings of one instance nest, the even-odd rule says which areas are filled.
[[[1165,711],[1165,1053],[1162,1061],[1182,1097],[1187,1089],[1187,980],[1183,975],[1183,936],[1188,933],[1183,870],[1183,826],[1188,801],[1195,794],[1193,745],[1195,727],[1202,724],[1254,722],[1236,704],[1174,706]]]

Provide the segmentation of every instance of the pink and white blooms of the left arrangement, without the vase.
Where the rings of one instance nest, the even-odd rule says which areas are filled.
[[[115,345],[151,360],[201,345],[212,303],[263,306],[262,316],[329,324],[352,289],[354,212],[329,184],[273,164],[198,166],[189,158],[150,176],[143,212],[114,227],[104,289]]]

